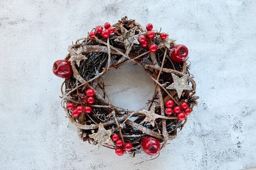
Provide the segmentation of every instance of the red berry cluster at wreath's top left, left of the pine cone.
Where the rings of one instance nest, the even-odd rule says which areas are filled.
[[[101,25],[96,26],[95,32],[91,31],[89,33],[89,37],[94,38],[96,36],[96,33],[97,33],[97,34],[101,34],[102,37],[104,37],[104,38],[108,38],[110,34],[115,32],[115,29],[110,25],[109,22],[106,22],[104,24],[104,28],[105,29],[103,30],[103,26],[101,26]]]

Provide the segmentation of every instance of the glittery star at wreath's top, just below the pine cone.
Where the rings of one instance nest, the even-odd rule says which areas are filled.
[[[120,35],[119,37],[117,37],[115,39],[115,41],[117,42],[123,42],[124,43],[124,47],[127,50],[130,46],[132,46],[133,44],[139,44],[137,38],[135,38],[135,31],[138,29],[137,26],[133,27],[132,29],[130,29],[129,31],[124,28],[124,26],[121,26],[121,33],[122,35]]]

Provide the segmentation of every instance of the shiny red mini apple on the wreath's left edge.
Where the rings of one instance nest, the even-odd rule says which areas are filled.
[[[71,64],[67,60],[57,60],[52,66],[54,75],[63,79],[68,79],[72,75]]]

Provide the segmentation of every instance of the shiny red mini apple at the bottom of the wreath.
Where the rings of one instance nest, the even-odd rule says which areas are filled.
[[[160,151],[160,142],[153,137],[144,137],[141,140],[141,149],[148,155],[156,155]]]

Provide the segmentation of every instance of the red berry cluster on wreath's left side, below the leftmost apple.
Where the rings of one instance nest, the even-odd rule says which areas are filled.
[[[89,104],[93,104],[94,103],[94,90],[92,88],[88,88],[87,91],[85,92],[86,93],[86,103],[89,103]],[[66,108],[68,110],[72,110],[74,108],[74,104],[73,103],[68,103]],[[74,108],[72,110],[72,115],[74,117],[79,117],[80,113],[82,113],[83,111],[85,111],[85,113],[91,113],[92,111],[92,108],[90,106],[85,106],[85,108],[83,108],[83,106],[79,105],[77,106],[76,108]]]

